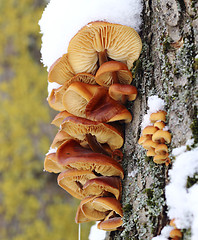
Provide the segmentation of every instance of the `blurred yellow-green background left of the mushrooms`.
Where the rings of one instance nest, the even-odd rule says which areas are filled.
[[[0,0],[0,239],[72,240],[79,201],[43,163],[57,129],[46,101],[38,21],[43,0]],[[88,239],[89,224],[82,225]]]

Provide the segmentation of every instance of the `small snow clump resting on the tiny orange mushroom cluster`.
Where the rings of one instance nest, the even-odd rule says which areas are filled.
[[[156,113],[160,110],[164,111],[164,107],[165,107],[164,100],[159,98],[157,95],[150,96],[148,98],[148,110],[147,110],[147,113],[143,117],[141,129],[143,130],[147,126],[152,126],[153,123],[150,122],[150,115],[152,113]]]

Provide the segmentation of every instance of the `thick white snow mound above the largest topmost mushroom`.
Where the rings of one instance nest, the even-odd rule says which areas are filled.
[[[141,0],[51,0],[39,21],[41,55],[50,66],[67,52],[71,38],[92,21],[108,21],[140,30]]]

